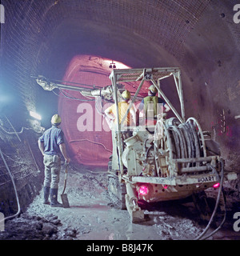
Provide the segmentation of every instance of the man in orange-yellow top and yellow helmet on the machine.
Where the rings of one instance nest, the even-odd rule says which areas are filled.
[[[119,115],[119,123],[122,122],[122,118],[126,114],[126,110],[130,106],[130,91],[124,90],[122,93],[122,101],[118,102],[118,115]],[[114,122],[114,124],[111,124],[111,129],[116,128],[117,125],[117,113],[116,113],[116,105],[113,104],[112,106],[108,107],[104,113],[106,116],[110,119],[111,122]],[[133,126],[136,123],[136,113],[134,110],[134,107],[130,108],[129,114],[126,116],[126,119],[123,122],[123,129],[125,129],[127,126]],[[114,127],[115,126],[115,127]],[[125,128],[124,128],[125,127]]]

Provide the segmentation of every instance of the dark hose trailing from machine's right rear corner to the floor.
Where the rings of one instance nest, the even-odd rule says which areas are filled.
[[[210,221],[208,222],[208,225],[206,226],[205,230],[202,231],[202,234],[200,234],[197,238],[195,238],[194,240],[200,240],[204,234],[206,234],[206,231],[209,230],[210,228],[210,225],[211,223],[213,222],[214,220],[214,216],[218,210],[218,204],[220,202],[220,197],[221,197],[221,194],[223,195],[223,199],[224,199],[224,206],[226,206],[226,198],[225,198],[225,195],[223,193],[223,174],[224,174],[224,163],[223,163],[223,160],[220,159],[220,163],[221,163],[221,180],[220,180],[220,186],[219,186],[219,189],[218,189],[218,197],[217,197],[217,201],[216,201],[216,204],[215,204],[215,207],[214,207],[214,211],[211,215],[211,218],[210,218]],[[226,209],[225,209],[225,214],[224,214],[224,218],[222,220],[222,223],[218,226],[218,228],[216,230],[214,230],[211,234],[207,235],[205,238],[202,238],[201,240],[203,239],[206,239],[206,238],[209,238],[211,235],[215,234],[223,225],[223,223],[225,222],[226,220]]]

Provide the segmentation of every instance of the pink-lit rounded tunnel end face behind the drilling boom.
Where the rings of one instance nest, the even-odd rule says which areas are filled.
[[[112,65],[114,63],[114,65]],[[71,86],[85,88],[101,88],[110,86],[110,73],[116,69],[128,69],[121,62],[90,55],[75,56],[66,68],[63,81]],[[71,84],[73,83],[73,84]],[[78,84],[76,84],[78,83]],[[66,83],[68,84],[68,83]],[[133,82],[124,84],[132,96],[136,91]],[[147,86],[146,86],[147,88]],[[147,89],[142,88],[143,94]],[[97,102],[96,98],[85,97],[78,91],[62,90],[58,99],[58,114],[62,118],[61,129],[66,138],[70,157],[79,164],[86,166],[107,166],[112,154],[112,136],[104,116],[101,114],[106,107],[114,102]],[[136,102],[137,103],[137,102]]]

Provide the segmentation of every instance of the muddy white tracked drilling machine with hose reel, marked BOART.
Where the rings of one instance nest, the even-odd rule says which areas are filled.
[[[178,110],[160,86],[163,79],[170,77],[174,78],[178,94]],[[117,124],[112,130],[113,154],[108,165],[108,190],[114,205],[128,210],[131,222],[145,219],[139,202],[162,202],[193,196],[198,205],[200,192],[212,186],[221,187],[223,178],[236,178],[234,174],[224,174],[224,161],[210,132],[203,131],[196,118],[186,118],[179,68],[115,69],[110,74],[111,85],[94,90],[50,82],[42,76],[38,76],[36,81],[44,90],[78,90],[87,97],[114,100]],[[118,102],[126,82],[134,82],[138,86],[119,122]],[[138,122],[136,126],[128,127],[126,136],[122,124],[146,84],[155,86],[174,117],[166,118],[164,113],[160,113],[154,122]]]

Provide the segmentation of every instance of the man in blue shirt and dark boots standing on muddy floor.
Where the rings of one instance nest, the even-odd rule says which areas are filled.
[[[62,207],[62,204],[58,202],[58,182],[61,170],[60,152],[65,158],[65,161],[67,163],[70,162],[70,158],[66,154],[64,134],[59,128],[61,122],[62,119],[60,116],[54,114],[51,118],[51,128],[46,130],[38,139],[38,147],[42,152],[45,166],[43,203],[50,204],[52,207]]]

